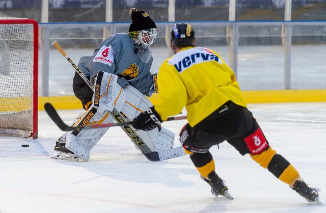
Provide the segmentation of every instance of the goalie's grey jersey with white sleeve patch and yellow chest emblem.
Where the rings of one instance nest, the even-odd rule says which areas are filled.
[[[129,84],[144,95],[150,96],[154,92],[153,77],[150,73],[152,62],[152,56],[148,63],[143,62],[135,54],[133,39],[127,34],[118,33],[105,39],[95,49],[93,56],[80,58],[78,68],[90,78],[92,84],[97,72],[101,70],[118,75],[120,86]]]

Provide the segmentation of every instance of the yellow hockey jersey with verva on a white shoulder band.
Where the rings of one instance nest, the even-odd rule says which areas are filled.
[[[188,123],[195,126],[228,100],[247,107],[235,74],[213,50],[185,47],[159,68],[159,93],[151,99],[162,120],[185,106]]]

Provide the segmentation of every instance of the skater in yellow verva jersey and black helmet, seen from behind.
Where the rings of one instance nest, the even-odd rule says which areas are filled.
[[[154,106],[136,117],[133,126],[152,129],[185,107],[188,123],[181,129],[180,142],[213,195],[232,198],[226,184],[215,173],[209,152],[211,146],[227,141],[306,200],[315,202],[317,190],[304,182],[297,170],[269,146],[247,109],[234,72],[219,54],[196,47],[195,32],[188,23],[175,24],[171,48],[175,55],[158,71],[159,93],[153,100]]]

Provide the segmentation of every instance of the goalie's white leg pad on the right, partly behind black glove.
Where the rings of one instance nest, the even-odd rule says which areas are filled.
[[[129,120],[132,120],[140,113],[153,106],[149,99],[134,87],[127,85],[124,91],[126,93],[126,100],[121,112]],[[150,131],[135,131],[152,151],[164,151],[173,148],[174,133],[164,127],[161,127],[160,130],[155,128]],[[135,147],[139,149],[136,145]]]

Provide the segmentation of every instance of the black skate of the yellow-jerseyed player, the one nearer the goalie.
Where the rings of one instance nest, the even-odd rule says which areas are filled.
[[[211,187],[211,192],[216,197],[222,195],[226,198],[233,199],[228,193],[229,188],[225,185],[224,181],[213,171],[208,175],[208,178],[201,176]]]

